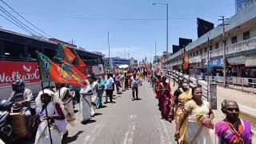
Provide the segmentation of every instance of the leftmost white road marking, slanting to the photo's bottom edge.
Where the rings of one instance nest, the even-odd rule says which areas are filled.
[[[94,127],[93,130],[91,130],[90,135],[86,135],[86,138],[84,139],[84,143],[86,144],[92,144],[97,135],[101,132],[102,128],[104,127],[104,124],[102,122],[100,122],[97,126]]]

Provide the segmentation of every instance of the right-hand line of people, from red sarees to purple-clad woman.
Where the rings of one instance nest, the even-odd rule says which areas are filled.
[[[184,78],[172,94],[166,76],[152,72],[149,78],[162,119],[175,120],[174,138],[179,144],[210,144],[216,139],[222,144],[252,143],[250,122],[239,118],[238,103],[234,100],[222,102],[226,118],[214,123],[210,103],[202,98],[202,87],[191,88],[190,82]]]

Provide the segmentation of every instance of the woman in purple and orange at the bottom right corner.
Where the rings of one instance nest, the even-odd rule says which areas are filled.
[[[219,143],[252,143],[250,122],[247,122],[242,118],[238,118],[238,103],[231,100],[224,100],[222,102],[222,113],[226,114],[226,118],[217,122],[214,126],[214,131],[218,136]]]

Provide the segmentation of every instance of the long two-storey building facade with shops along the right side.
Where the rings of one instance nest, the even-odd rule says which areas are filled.
[[[210,75],[222,76],[225,45],[227,76],[255,78],[256,3],[239,10],[225,23],[228,25],[225,26],[224,41],[222,41],[222,26],[217,26],[186,46],[189,55],[189,73],[206,74],[209,66]],[[173,70],[182,71],[183,53],[183,50],[179,50],[170,56],[168,63]]]

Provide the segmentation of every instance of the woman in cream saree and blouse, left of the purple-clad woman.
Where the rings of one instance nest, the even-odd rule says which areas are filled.
[[[210,103],[202,100],[202,88],[192,89],[193,98],[186,102],[184,112],[178,126],[176,126],[175,138],[178,140],[180,128],[185,124],[186,141],[180,143],[211,144],[210,129],[214,129],[214,113],[210,109]]]

